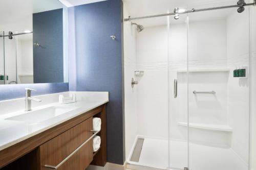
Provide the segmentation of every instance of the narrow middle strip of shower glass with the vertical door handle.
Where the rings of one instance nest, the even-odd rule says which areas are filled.
[[[176,17],[168,16],[168,163],[171,169],[184,169],[188,167],[187,15]]]

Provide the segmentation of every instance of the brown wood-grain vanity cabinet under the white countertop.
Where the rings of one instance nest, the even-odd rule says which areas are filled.
[[[3,167],[3,170],[49,170],[56,169],[56,166],[63,160],[65,161],[57,168],[58,170],[84,170],[90,163],[104,166],[106,164],[105,107],[105,105],[99,106],[38,134],[39,140],[34,136],[0,151],[1,156],[7,156],[6,162],[0,160],[0,167]],[[93,117],[100,117],[102,122],[101,131],[97,134],[101,137],[101,147],[96,153],[93,152]],[[35,142],[37,142],[36,145]],[[82,147],[80,147],[81,145]],[[31,148],[29,148],[30,146]],[[14,150],[16,152],[13,152]],[[72,153],[73,155],[67,159]],[[17,159],[8,163],[8,157]]]

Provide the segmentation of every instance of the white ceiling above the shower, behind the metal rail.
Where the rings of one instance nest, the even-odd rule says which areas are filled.
[[[167,12],[173,12],[174,8],[185,8],[187,10],[190,9],[201,9],[201,8],[210,8],[210,7],[218,7],[218,6],[226,6],[226,5],[235,5],[237,3],[236,0],[123,0],[125,8],[131,17],[140,17],[147,15],[156,15],[156,14],[164,14]],[[190,13],[189,21],[200,21],[200,20],[208,20],[208,19],[225,19],[235,8],[231,9],[222,9],[215,11],[204,11],[204,12],[196,12]],[[186,15],[180,17],[179,20],[175,20],[173,16],[170,16],[170,23],[182,23],[185,22]],[[125,18],[128,16],[124,16]],[[153,27],[159,25],[166,25],[167,19],[166,17],[156,17],[156,18],[148,18],[148,19],[139,19],[134,20],[144,27]]]

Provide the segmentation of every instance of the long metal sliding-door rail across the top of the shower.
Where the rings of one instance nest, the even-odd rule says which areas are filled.
[[[253,3],[242,4],[242,5],[230,5],[230,6],[221,6],[221,7],[213,7],[213,8],[203,8],[203,9],[193,8],[191,10],[187,10],[184,12],[178,12],[178,13],[173,12],[173,13],[142,16],[142,17],[135,17],[135,18],[131,18],[131,16],[129,16],[128,18],[124,18],[124,21],[131,21],[131,20],[135,20],[135,19],[144,19],[144,18],[153,18],[153,17],[160,17],[160,16],[170,16],[170,15],[175,15],[175,14],[186,14],[186,13],[201,12],[201,11],[211,11],[211,10],[217,10],[217,9],[240,8],[240,7],[245,7],[245,6],[256,6],[256,0],[253,0]]]

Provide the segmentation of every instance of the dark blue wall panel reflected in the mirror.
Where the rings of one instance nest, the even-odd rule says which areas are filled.
[[[63,9],[33,14],[34,83],[63,82]]]

